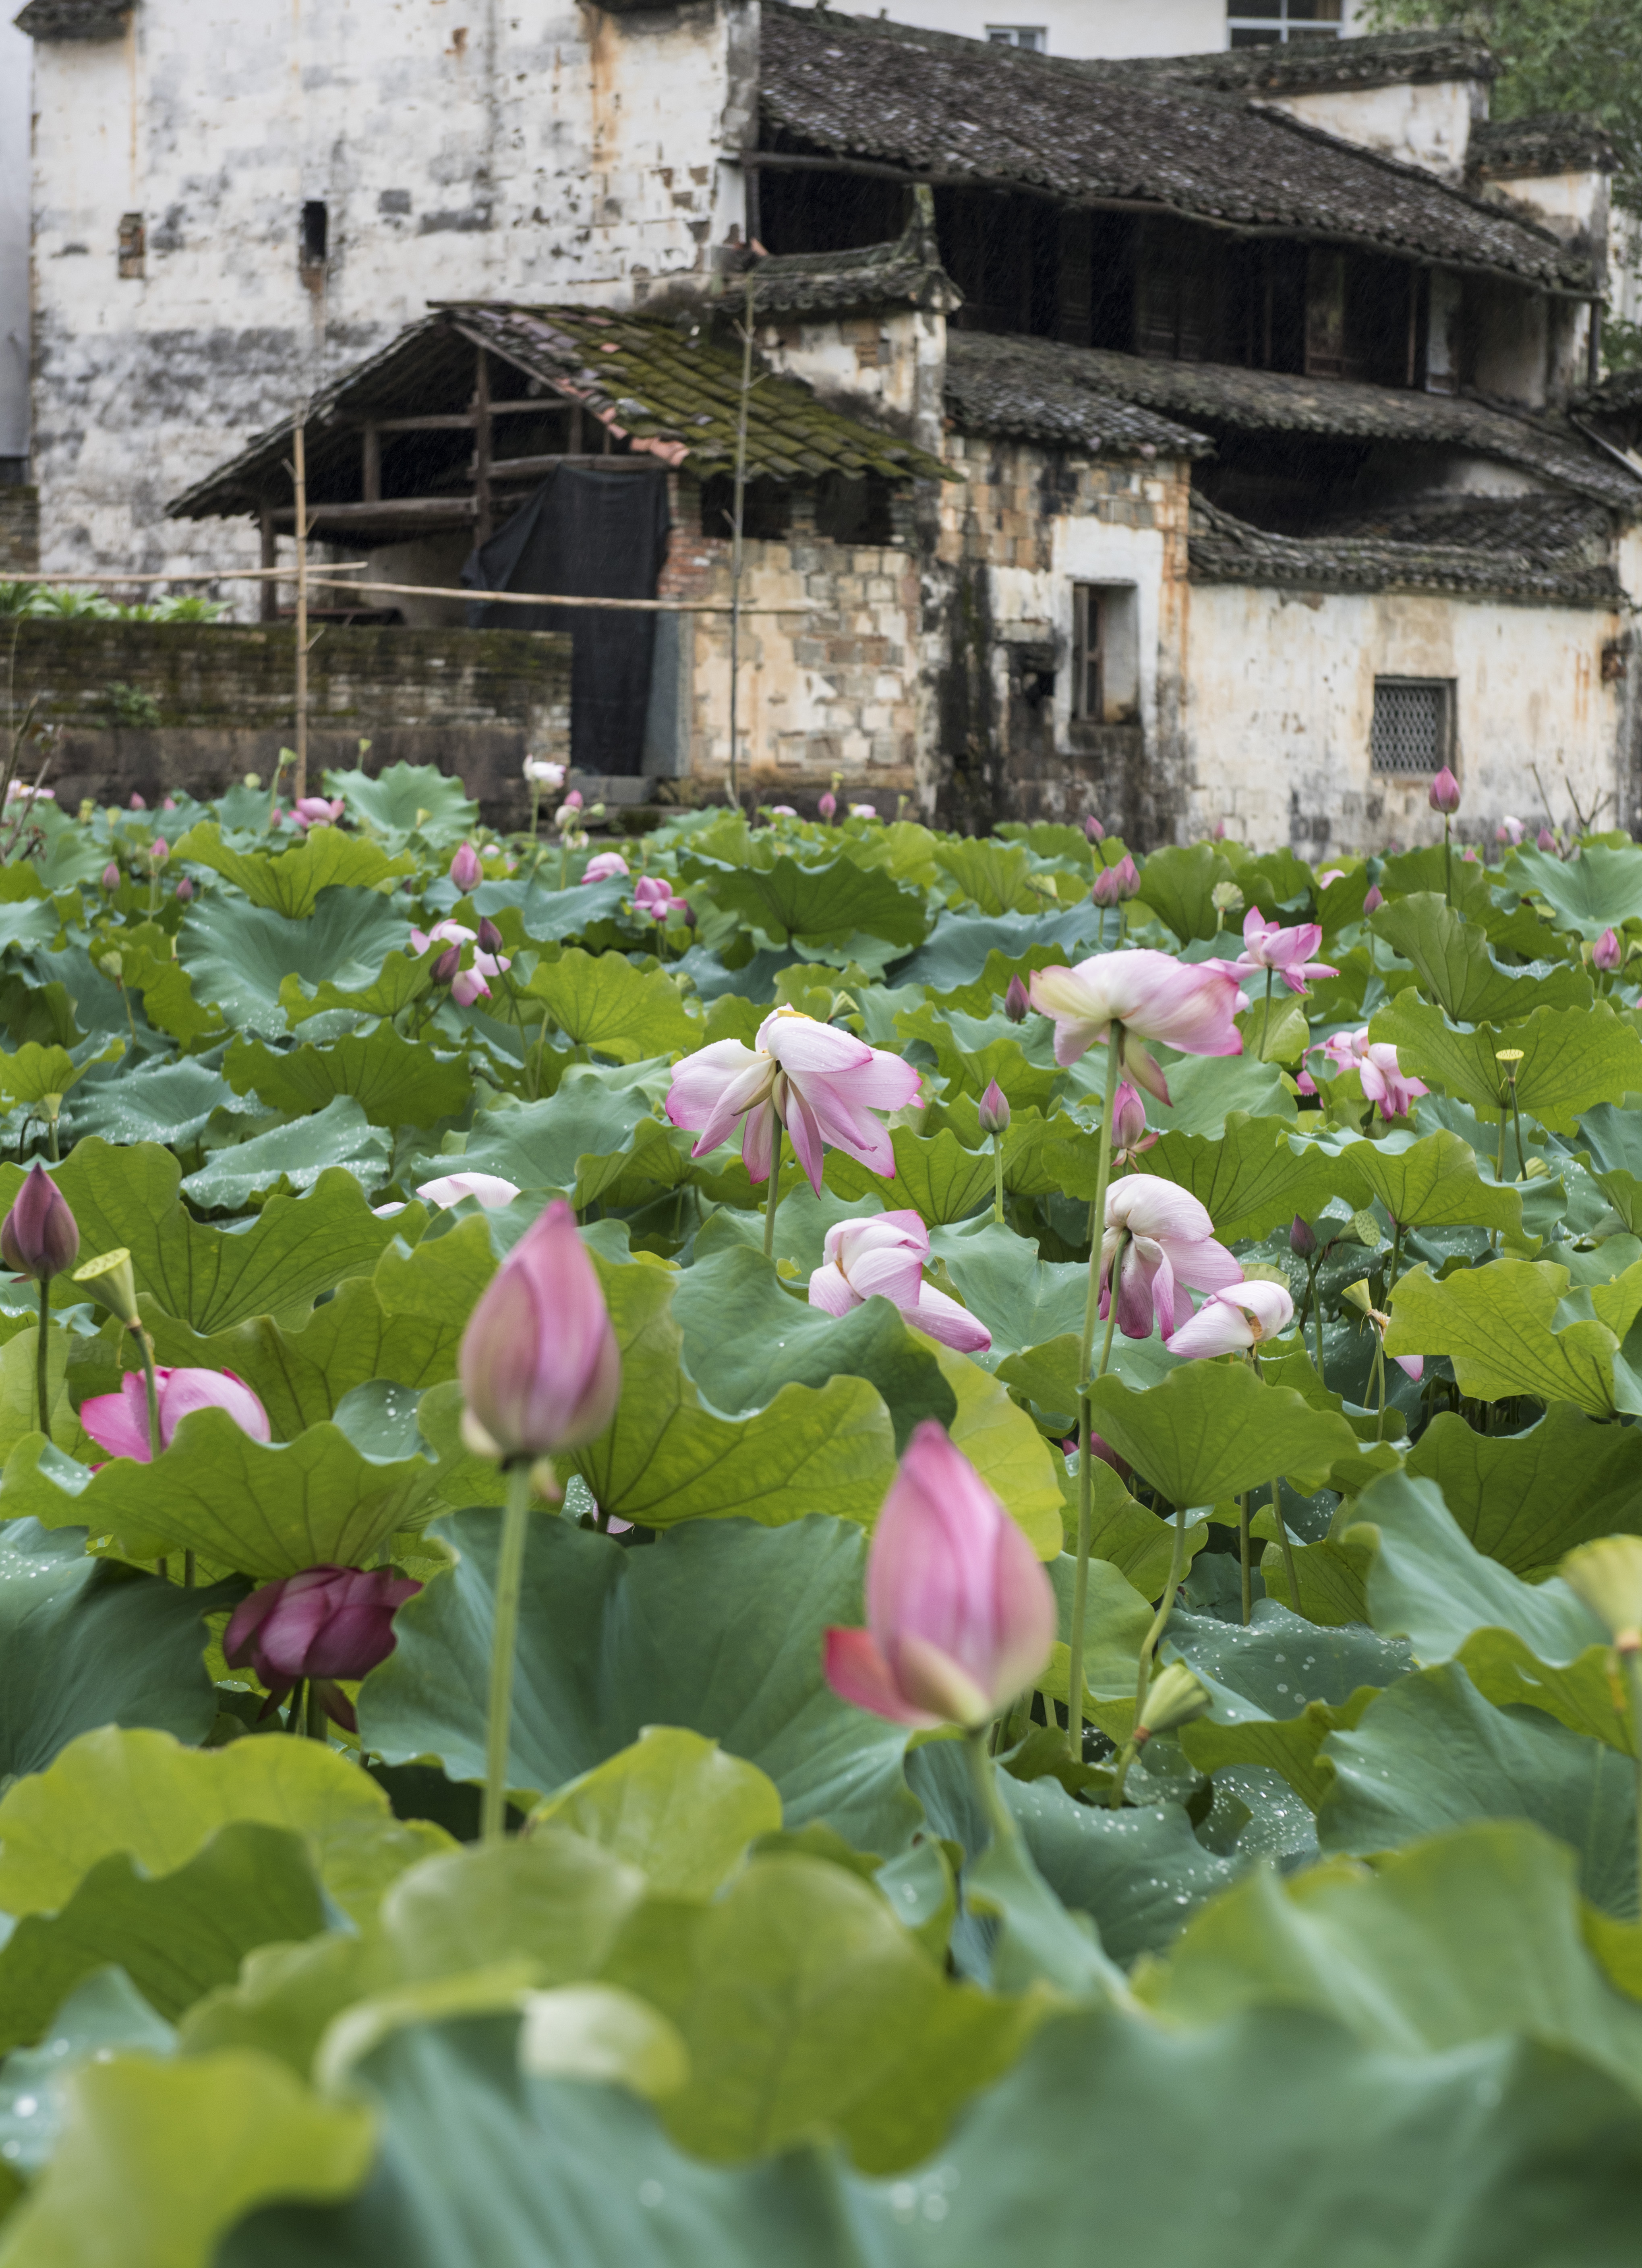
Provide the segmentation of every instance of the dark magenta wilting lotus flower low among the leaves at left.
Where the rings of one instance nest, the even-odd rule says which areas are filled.
[[[299,1678],[313,1678],[327,1717],[358,1730],[354,1703],[336,1678],[363,1678],[395,1649],[395,1610],[422,1590],[386,1567],[308,1567],[263,1583],[240,1599],[222,1633],[229,1669],[254,1669],[268,1687],[268,1717]]]

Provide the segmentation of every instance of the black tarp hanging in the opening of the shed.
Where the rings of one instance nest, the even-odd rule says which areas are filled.
[[[667,474],[560,465],[463,567],[472,590],[653,599],[667,558]],[[467,608],[472,628],[567,631],[569,755],[578,771],[637,773],[655,615],[581,606]]]

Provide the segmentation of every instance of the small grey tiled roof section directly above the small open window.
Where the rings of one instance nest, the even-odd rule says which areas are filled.
[[[946,333],[946,408],[964,433],[1009,433],[1052,449],[1209,456],[1213,442],[1089,383],[1089,352],[1052,338]]]

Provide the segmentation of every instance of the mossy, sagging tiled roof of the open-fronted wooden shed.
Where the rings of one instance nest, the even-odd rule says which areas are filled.
[[[531,376],[581,401],[615,440],[708,476],[735,467],[742,354],[701,320],[667,322],[601,308],[456,304],[410,324],[381,354],[356,363],[308,408],[308,456],[322,460],[327,429],[365,415],[420,413],[429,374],[449,365],[451,342],[490,347]],[[467,347],[472,365],[472,347]],[[172,517],[240,513],[283,490],[290,426],[249,449],[168,506]],[[753,479],[805,483],[828,472],[875,472],[891,481],[941,479],[946,467],[912,442],[841,415],[796,379],[760,376],[748,401],[746,469]]]

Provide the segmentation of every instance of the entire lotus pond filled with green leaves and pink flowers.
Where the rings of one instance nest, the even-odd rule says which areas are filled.
[[[0,2268],[1635,2259],[1642,848],[1440,826],[11,828]]]

